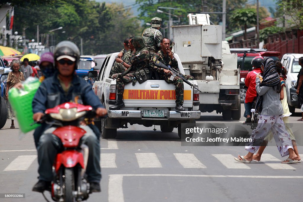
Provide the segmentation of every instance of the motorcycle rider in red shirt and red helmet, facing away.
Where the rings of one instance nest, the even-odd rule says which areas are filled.
[[[256,91],[256,74],[262,73],[261,62],[263,57],[257,56],[251,60],[251,65],[254,67],[253,71],[248,72],[245,78],[245,85],[248,87],[244,101],[244,117],[246,118],[245,123],[251,123],[251,108],[254,99],[257,97]]]

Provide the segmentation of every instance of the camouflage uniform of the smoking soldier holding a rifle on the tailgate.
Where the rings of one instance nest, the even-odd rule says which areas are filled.
[[[164,55],[164,52],[162,50],[160,50],[160,51],[158,51],[156,56],[151,58],[150,66],[151,66],[151,70],[158,72],[159,78],[161,80],[165,80],[167,83],[169,83],[169,84],[172,83],[175,85],[175,87],[176,87],[176,105],[182,105],[183,98],[184,98],[183,80],[178,76],[176,76],[173,80],[170,80],[169,78],[171,77],[171,75],[166,75],[164,73],[164,68],[159,68],[159,67],[155,66],[156,61],[160,61],[164,65],[171,67],[171,68],[175,68],[176,70],[178,70],[178,61],[176,60],[175,57],[173,57],[171,59],[168,55]],[[183,75],[183,77],[186,78],[187,80],[194,80],[194,77],[190,76],[190,75]]]

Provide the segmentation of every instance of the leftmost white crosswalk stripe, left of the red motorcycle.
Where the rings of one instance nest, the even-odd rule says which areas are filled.
[[[37,155],[18,156],[3,171],[26,171],[36,158]]]

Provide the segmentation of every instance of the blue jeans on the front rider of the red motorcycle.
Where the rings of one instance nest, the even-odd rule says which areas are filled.
[[[89,126],[80,127],[86,131],[86,134],[81,139],[82,143],[86,144],[89,149],[86,167],[88,181],[100,183],[100,141]],[[39,138],[37,147],[39,180],[52,181],[52,165],[58,151],[62,151],[63,149],[61,140],[52,134],[55,129],[55,127],[48,128]]]

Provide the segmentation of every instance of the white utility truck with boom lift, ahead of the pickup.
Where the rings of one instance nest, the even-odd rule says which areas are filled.
[[[194,76],[201,112],[222,113],[223,119],[241,117],[240,69],[237,54],[231,54],[222,41],[222,27],[210,25],[208,14],[188,14],[189,25],[172,26],[174,52],[179,55],[185,74]],[[186,69],[186,68],[185,68]]]

